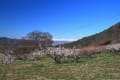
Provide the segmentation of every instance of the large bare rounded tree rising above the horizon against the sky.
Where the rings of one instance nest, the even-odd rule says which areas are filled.
[[[45,48],[52,44],[52,35],[48,32],[32,31],[27,34],[25,39],[34,41],[39,48]]]

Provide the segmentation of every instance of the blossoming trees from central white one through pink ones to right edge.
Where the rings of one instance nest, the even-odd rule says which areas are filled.
[[[45,50],[45,54],[51,57],[56,63],[61,63],[61,59],[72,59],[78,62],[83,56],[91,57],[94,54],[99,53],[117,53],[120,54],[120,44],[112,44],[107,46],[89,46],[84,48],[64,48],[64,47],[48,47]]]

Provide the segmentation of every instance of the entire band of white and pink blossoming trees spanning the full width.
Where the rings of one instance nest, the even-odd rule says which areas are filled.
[[[91,55],[95,53],[101,52],[112,52],[119,53],[120,52],[120,44],[107,45],[107,46],[90,46],[84,48],[64,48],[64,47],[47,47],[41,50],[35,49],[29,54],[22,54],[18,56],[11,56],[12,51],[5,51],[5,54],[0,54],[0,63],[1,64],[9,64],[13,62],[14,59],[22,59],[22,60],[35,60],[44,56],[51,57],[55,63],[61,63],[62,60],[72,60],[78,62],[79,59],[83,56],[91,57]]]

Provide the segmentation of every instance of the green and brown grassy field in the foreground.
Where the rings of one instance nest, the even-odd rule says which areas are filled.
[[[120,80],[120,56],[110,53],[55,64],[48,57],[0,65],[0,80]]]

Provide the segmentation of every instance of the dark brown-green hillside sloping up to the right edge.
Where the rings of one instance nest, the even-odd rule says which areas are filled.
[[[108,45],[113,43],[120,43],[120,22],[112,25],[109,29],[104,30],[100,33],[94,34],[92,36],[84,37],[80,40],[74,41],[72,43],[64,44],[64,47],[86,47],[86,46],[99,46]]]

